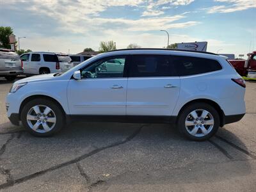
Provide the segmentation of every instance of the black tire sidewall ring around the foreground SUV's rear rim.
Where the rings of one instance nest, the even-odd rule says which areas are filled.
[[[193,136],[193,135],[189,134],[189,132],[186,129],[186,126],[185,126],[186,118],[189,115],[189,113],[191,113],[192,111],[194,111],[196,109],[205,109],[205,110],[209,111],[214,118],[214,126],[212,128],[212,131],[209,132],[209,134],[207,134],[206,136],[202,136],[202,137]],[[216,109],[213,108],[211,105],[203,103],[203,102],[196,102],[182,110],[182,112],[180,113],[179,118],[178,118],[178,127],[179,127],[179,131],[182,134],[184,134],[184,136],[186,136],[186,138],[189,138],[189,140],[204,141],[204,140],[211,138],[218,131],[218,128],[220,127],[220,115],[218,114]]]

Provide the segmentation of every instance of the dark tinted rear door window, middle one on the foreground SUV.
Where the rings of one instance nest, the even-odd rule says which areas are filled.
[[[173,63],[167,55],[134,55],[128,74],[129,77],[176,76]]]

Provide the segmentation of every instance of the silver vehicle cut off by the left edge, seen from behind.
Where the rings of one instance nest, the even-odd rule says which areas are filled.
[[[0,77],[13,81],[20,74],[23,70],[19,54],[10,49],[0,49]]]

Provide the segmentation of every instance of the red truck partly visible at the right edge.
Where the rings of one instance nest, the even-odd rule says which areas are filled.
[[[256,72],[256,51],[247,56],[248,60],[228,60],[240,76],[247,76],[249,71]]]

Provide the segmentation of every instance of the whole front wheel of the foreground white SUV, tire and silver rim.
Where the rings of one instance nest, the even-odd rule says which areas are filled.
[[[29,101],[20,118],[24,127],[35,136],[51,136],[60,131],[65,122],[60,106],[49,99]]]

